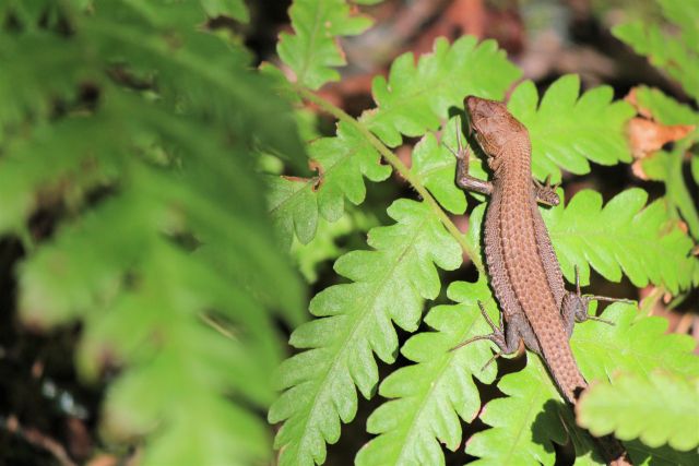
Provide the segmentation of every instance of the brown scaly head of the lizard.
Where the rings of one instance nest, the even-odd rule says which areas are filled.
[[[503,148],[514,136],[522,133],[526,135],[526,128],[512,117],[501,101],[469,96],[465,104],[471,131],[488,156],[488,165],[497,171],[502,156],[509,153]]]

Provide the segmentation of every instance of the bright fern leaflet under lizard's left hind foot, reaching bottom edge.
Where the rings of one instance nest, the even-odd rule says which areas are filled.
[[[481,408],[473,377],[483,383],[495,379],[496,366],[483,366],[493,356],[487,345],[450,348],[489,328],[477,301],[497,309],[485,280],[452,283],[447,291],[454,306],[433,308],[425,323],[437,332],[408,339],[401,353],[416,365],[401,368],[382,383],[379,394],[395,398],[369,417],[367,430],[380,434],[358,453],[357,465],[445,464],[441,445],[455,451],[461,444],[459,418],[471,421]]]

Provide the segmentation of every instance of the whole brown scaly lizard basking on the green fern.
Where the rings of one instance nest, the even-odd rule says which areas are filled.
[[[532,181],[531,142],[526,128],[505,104],[474,96],[466,97],[470,128],[487,156],[493,180],[469,176],[467,150],[459,147],[457,183],[490,196],[485,216],[485,256],[490,285],[500,304],[497,327],[481,304],[493,333],[477,336],[489,339],[500,354],[516,353],[521,342],[542,356],[556,385],[570,404],[588,384],[570,349],[574,322],[588,316],[592,299],[582,296],[576,270],[577,292],[565,289],[562,274],[537,202],[558,204],[555,187]],[[459,132],[458,132],[459,133]],[[601,442],[611,464],[630,464],[618,442]]]

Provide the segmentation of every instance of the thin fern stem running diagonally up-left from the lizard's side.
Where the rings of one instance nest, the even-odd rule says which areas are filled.
[[[418,194],[427,202],[431,211],[435,213],[439,222],[447,228],[447,231],[461,246],[461,249],[466,253],[471,261],[476,266],[479,273],[484,273],[483,263],[481,262],[481,256],[478,252],[474,250],[469,241],[466,241],[466,237],[459,231],[459,228],[451,222],[451,218],[447,215],[447,213],[439,206],[439,203],[433,198],[433,195],[427,191],[427,188],[419,182],[419,180],[411,174],[411,170],[401,162],[400,158],[395,154],[393,154],[383,143],[374,135],[368,128],[362,124],[357,119],[351,117],[347,112],[345,112],[342,108],[335,107],[324,98],[319,95],[308,91],[307,88],[299,86],[298,84],[294,84],[294,89],[306,100],[316,104],[318,107],[337,118],[340,121],[344,121],[347,124],[354,127],[359,133],[362,133],[367,141],[376,148],[379,154],[389,163],[391,166],[405,179],[411,186],[418,192]]]

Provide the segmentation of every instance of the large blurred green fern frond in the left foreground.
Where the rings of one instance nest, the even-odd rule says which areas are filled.
[[[14,58],[0,79],[11,109],[0,117],[0,231],[26,228],[38,207],[59,215],[20,266],[21,315],[82,321],[81,373],[120,369],[104,430],[141,442],[144,465],[266,462],[256,411],[274,397],[282,353],[272,309],[296,324],[304,298],[274,248],[250,145],[299,158],[291,106],[248,70],[247,52],[194,33],[198,2],[107,1],[88,15],[61,5],[68,36],[0,35],[3,61]],[[10,93],[31,70],[39,76]],[[96,101],[81,100],[85,84]],[[281,120],[249,118],[264,107]]]

